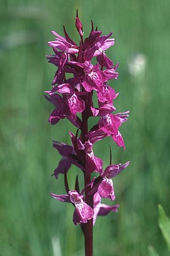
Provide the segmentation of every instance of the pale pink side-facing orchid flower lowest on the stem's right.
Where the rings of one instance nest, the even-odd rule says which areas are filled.
[[[93,225],[95,225],[97,216],[105,216],[109,212],[118,212],[118,207],[120,205],[107,205],[101,204],[101,196],[98,192],[94,194],[94,218],[93,218]]]

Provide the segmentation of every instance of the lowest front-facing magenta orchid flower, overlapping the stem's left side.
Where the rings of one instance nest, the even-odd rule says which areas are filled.
[[[83,195],[75,190],[69,191],[68,195],[56,195],[54,193],[50,193],[50,195],[58,201],[74,204],[73,222],[75,225],[87,223],[94,216],[94,210],[84,202]]]

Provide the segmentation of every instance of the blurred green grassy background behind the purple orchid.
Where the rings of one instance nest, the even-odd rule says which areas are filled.
[[[61,158],[52,140],[70,144],[68,130],[75,128],[65,119],[51,126],[53,106],[43,96],[56,71],[45,59],[52,54],[46,43],[54,40],[50,30],[63,35],[65,24],[78,40],[76,8],[85,35],[91,19],[104,34],[113,31],[116,44],[108,55],[121,63],[120,77],[110,82],[120,92],[114,105],[118,112],[130,110],[121,127],[126,151],[109,138],[94,149],[104,166],[109,163],[108,144],[114,163],[131,161],[114,179],[118,213],[97,218],[94,256],[147,256],[148,245],[166,256],[157,205],[170,215],[169,0],[1,0],[0,255],[84,255],[72,205],[49,196],[65,193],[63,176],[51,177]],[[72,167],[72,189],[76,174]]]

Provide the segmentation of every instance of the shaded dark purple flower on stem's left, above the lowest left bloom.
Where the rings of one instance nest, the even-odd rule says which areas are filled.
[[[65,174],[65,172],[70,169],[71,164],[74,164],[78,168],[84,170],[82,164],[80,164],[76,159],[76,154],[73,146],[53,141],[53,147],[58,150],[60,155],[62,155],[62,159],[59,161],[58,167],[54,170],[53,175],[56,177],[56,179],[58,179],[59,174]]]

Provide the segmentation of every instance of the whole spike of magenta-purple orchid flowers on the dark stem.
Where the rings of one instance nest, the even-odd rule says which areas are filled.
[[[109,80],[117,79],[118,64],[113,64],[105,51],[114,45],[114,39],[109,35],[101,35],[101,31],[92,28],[90,35],[83,39],[83,26],[76,15],[76,29],[80,36],[79,44],[76,44],[69,37],[65,27],[63,32],[65,37],[52,31],[55,40],[48,42],[53,48],[54,54],[47,55],[49,63],[56,65],[57,71],[52,81],[52,89],[45,91],[54,110],[50,114],[49,122],[56,125],[60,119],[67,118],[78,129],[77,133],[69,131],[72,146],[57,141],[53,142],[53,147],[62,156],[54,176],[58,179],[59,174],[65,175],[66,195],[50,195],[54,199],[72,203],[75,207],[73,221],[77,223],[87,223],[97,215],[106,215],[110,211],[117,212],[119,205],[101,204],[101,198],[115,200],[112,178],[124,170],[129,162],[125,164],[109,164],[103,170],[103,160],[95,156],[94,143],[111,137],[118,147],[125,149],[124,139],[119,131],[120,126],[128,118],[128,111],[124,113],[114,113],[116,111],[113,100],[118,93],[108,84]],[[92,64],[92,60],[96,64]],[[93,61],[94,63],[94,61]],[[96,93],[97,106],[94,106],[93,95]],[[80,118],[80,114],[82,117]],[[114,114],[113,114],[114,113]],[[96,125],[88,130],[88,118],[97,118]],[[81,134],[78,137],[78,131]],[[71,164],[80,168],[84,174],[84,188],[80,192],[78,177],[75,181],[75,189],[70,190],[67,182],[67,171]],[[92,172],[98,174],[94,179],[90,179]],[[84,196],[84,192],[86,196]]]

